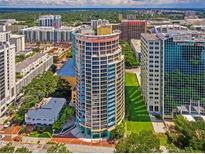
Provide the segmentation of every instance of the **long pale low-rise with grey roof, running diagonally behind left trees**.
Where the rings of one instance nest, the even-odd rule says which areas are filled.
[[[36,76],[47,71],[53,65],[53,56],[46,53],[38,53],[27,58],[16,65],[16,72],[22,78],[16,82],[16,92],[19,94],[21,89],[27,86]]]

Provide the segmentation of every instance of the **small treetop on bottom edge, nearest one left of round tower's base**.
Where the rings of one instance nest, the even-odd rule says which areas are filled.
[[[64,144],[55,144],[47,149],[48,153],[70,153]]]

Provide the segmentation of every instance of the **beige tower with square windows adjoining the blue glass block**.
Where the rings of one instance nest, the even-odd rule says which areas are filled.
[[[161,111],[161,41],[156,35],[145,33],[141,37],[141,87],[147,110]]]

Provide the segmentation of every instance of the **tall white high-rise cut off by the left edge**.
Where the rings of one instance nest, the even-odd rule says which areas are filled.
[[[10,32],[0,32],[0,116],[16,96],[15,44]]]

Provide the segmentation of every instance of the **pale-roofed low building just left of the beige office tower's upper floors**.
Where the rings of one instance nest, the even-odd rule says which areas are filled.
[[[141,40],[131,40],[131,47],[134,51],[135,57],[140,62],[140,56],[141,56]]]

